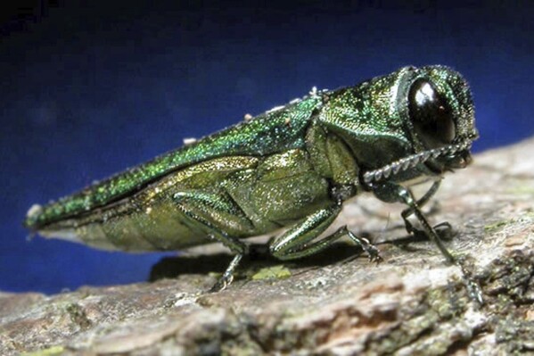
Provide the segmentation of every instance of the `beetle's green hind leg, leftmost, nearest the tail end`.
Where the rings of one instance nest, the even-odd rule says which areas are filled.
[[[234,279],[234,270],[248,253],[248,246],[238,238],[226,234],[226,228],[252,228],[251,222],[244,216],[241,209],[224,195],[202,191],[180,192],[174,195],[178,209],[193,228],[199,228],[207,236],[224,244],[235,253],[234,259],[226,268],[209,292],[218,292],[226,288]],[[224,225],[223,225],[224,224]]]

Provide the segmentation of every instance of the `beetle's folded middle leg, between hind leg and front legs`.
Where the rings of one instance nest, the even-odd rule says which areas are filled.
[[[271,254],[280,260],[299,259],[325,249],[326,246],[341,236],[349,236],[352,241],[362,247],[371,261],[380,261],[382,258],[378,249],[370,244],[366,238],[355,236],[346,226],[338,228],[332,235],[325,236],[313,244],[308,244],[333,223],[340,211],[341,204],[335,204],[309,215],[281,236],[275,238],[275,241],[269,246]]]

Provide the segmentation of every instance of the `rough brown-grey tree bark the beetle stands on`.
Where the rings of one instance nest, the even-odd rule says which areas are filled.
[[[465,256],[482,306],[433,244],[408,238],[402,207],[358,197],[339,220],[378,245],[378,266],[349,243],[291,263],[259,254],[225,291],[206,294],[217,277],[210,272],[230,260],[216,246],[161,261],[152,282],[0,293],[0,353],[534,352],[533,154],[534,139],[482,153],[449,174],[426,207],[431,221],[456,229],[446,244]]]

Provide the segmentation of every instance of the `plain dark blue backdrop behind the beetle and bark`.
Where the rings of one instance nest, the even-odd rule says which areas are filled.
[[[0,18],[0,290],[145,280],[161,254],[27,242],[21,220],[313,86],[447,64],[472,85],[475,151],[534,133],[529,1],[81,3]]]

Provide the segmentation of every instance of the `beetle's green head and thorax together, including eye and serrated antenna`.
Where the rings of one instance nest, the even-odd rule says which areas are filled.
[[[404,67],[325,97],[318,120],[349,146],[366,183],[441,175],[471,161],[472,94],[455,70]]]

